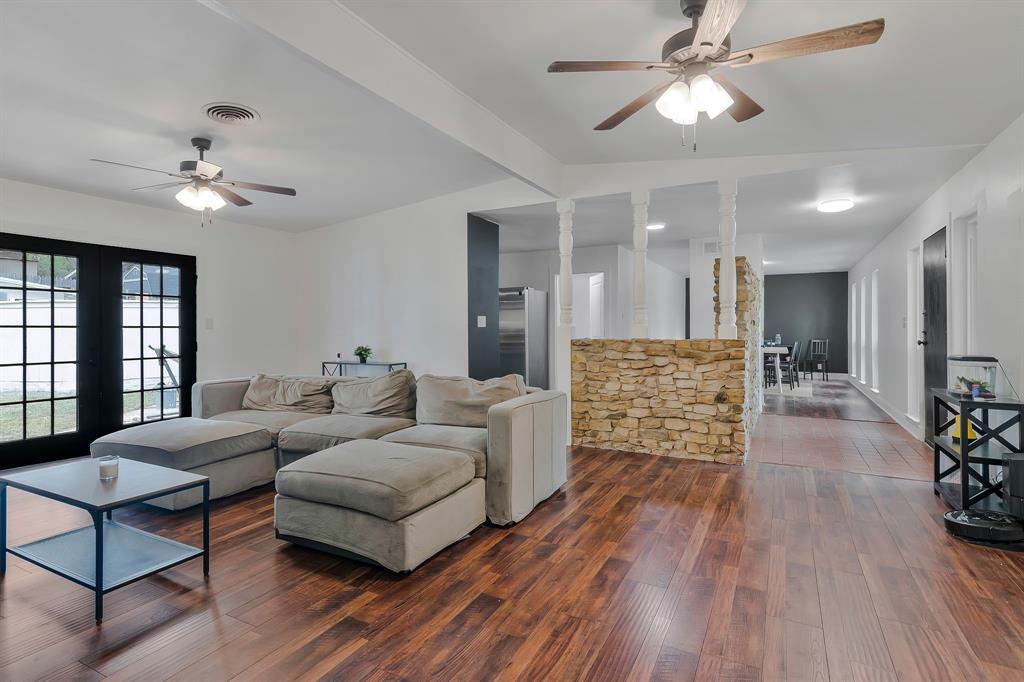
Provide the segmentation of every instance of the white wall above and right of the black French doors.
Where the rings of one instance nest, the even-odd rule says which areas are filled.
[[[170,193],[168,205],[175,206]],[[196,256],[200,379],[314,371],[294,365],[294,235],[213,223],[180,209],[154,209],[0,179],[0,230]],[[208,326],[212,325],[212,329]]]

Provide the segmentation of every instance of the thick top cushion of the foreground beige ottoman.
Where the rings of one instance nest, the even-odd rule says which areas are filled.
[[[278,493],[396,521],[473,479],[462,453],[380,440],[348,442],[303,457],[278,471]]]

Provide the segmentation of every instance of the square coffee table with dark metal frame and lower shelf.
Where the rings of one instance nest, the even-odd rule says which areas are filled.
[[[7,547],[7,487],[16,487],[92,516],[92,525],[18,547]],[[203,549],[161,538],[114,520],[114,510],[191,487],[203,487]],[[103,518],[105,515],[105,518]],[[0,574],[7,552],[96,593],[96,623],[103,620],[103,595],[119,587],[203,557],[210,574],[210,479],[186,471],[122,459],[113,480],[99,480],[96,460],[0,472]]]

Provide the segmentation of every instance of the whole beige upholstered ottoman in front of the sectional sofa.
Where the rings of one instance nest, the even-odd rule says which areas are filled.
[[[278,471],[278,537],[401,572],[484,520],[468,455],[349,440]]]

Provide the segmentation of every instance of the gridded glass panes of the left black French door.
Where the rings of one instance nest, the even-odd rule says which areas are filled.
[[[0,251],[0,442],[78,430],[77,278],[74,256]]]

